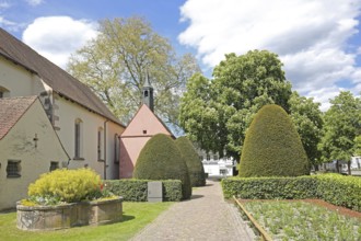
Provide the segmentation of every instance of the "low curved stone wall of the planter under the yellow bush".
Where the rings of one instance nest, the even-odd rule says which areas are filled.
[[[121,220],[123,198],[57,206],[16,205],[16,226],[22,230],[57,230],[97,226]]]

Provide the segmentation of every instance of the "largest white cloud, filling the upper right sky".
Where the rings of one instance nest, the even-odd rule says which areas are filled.
[[[358,33],[360,9],[360,0],[187,0],[180,14],[189,26],[178,39],[195,47],[208,67],[228,53],[277,53],[296,90],[327,102],[314,90],[326,96],[341,80],[360,84],[356,57],[361,46],[350,53],[347,45]]]

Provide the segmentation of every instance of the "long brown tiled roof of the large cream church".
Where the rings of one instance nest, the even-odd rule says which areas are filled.
[[[89,87],[0,27],[0,56],[36,73],[53,91],[124,126]]]

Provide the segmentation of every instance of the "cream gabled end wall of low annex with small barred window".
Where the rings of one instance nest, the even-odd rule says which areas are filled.
[[[51,161],[59,162],[60,168],[68,161],[38,100],[0,140],[0,210],[15,207],[15,202],[25,198],[28,184],[49,172]],[[21,177],[7,177],[8,160],[21,161]]]

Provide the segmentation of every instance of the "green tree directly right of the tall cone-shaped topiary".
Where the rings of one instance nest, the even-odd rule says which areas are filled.
[[[300,96],[293,92],[290,103],[291,119],[300,135],[310,163],[316,165],[321,162],[321,151],[317,145],[322,138],[323,113],[319,103],[314,103],[312,97]]]

